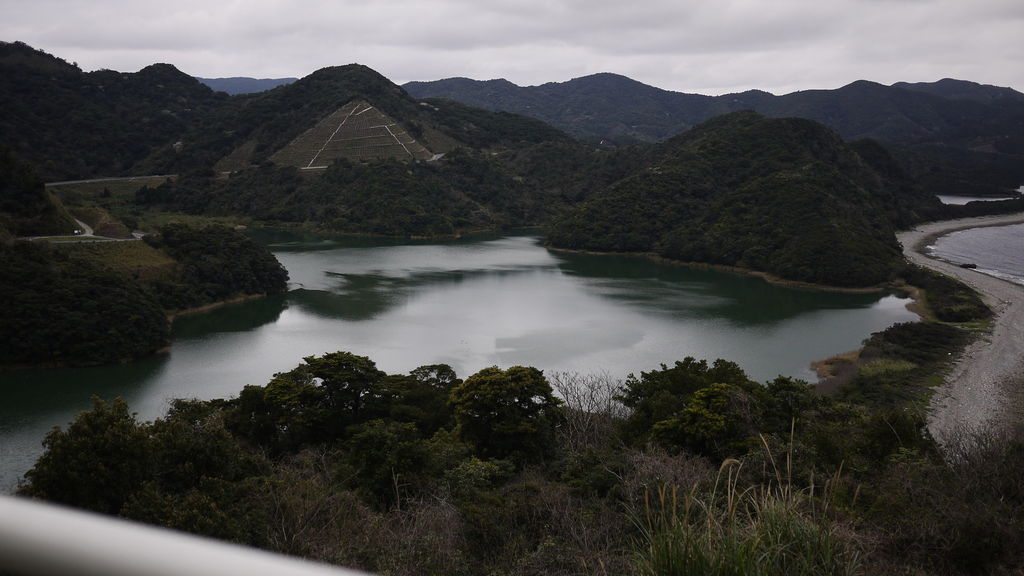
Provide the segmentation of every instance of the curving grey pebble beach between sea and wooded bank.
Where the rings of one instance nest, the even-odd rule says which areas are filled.
[[[1020,222],[1024,213],[930,222],[897,235],[908,260],[961,280],[995,313],[991,333],[965,349],[932,397],[928,428],[947,450],[965,438],[964,431],[1019,423],[1024,405],[1024,286],[928,257],[924,250],[950,232]]]

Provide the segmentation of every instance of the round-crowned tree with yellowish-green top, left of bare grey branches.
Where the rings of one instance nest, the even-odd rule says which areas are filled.
[[[492,458],[522,462],[550,455],[563,420],[561,401],[537,368],[484,368],[452,389],[460,437]]]

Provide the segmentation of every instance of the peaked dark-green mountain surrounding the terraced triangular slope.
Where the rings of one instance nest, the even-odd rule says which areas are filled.
[[[558,130],[525,117],[451,102],[444,106],[420,102],[370,68],[347,65],[318,70],[268,92],[230,98],[215,118],[194,126],[180,142],[168,142],[157,151],[143,163],[143,171],[181,172],[215,166],[221,171],[237,171],[268,160],[288,164],[273,158],[274,154],[290,146],[301,146],[299,140],[305,133],[318,123],[331,121],[332,115],[343,112],[343,107],[354,101],[364,101],[366,106],[339,115],[316,148],[334,150],[338,157],[353,160],[400,159],[403,156],[400,152],[380,153],[373,143],[352,154],[345,153],[352,142],[365,136],[380,137],[380,132],[353,133],[348,138],[345,134],[332,136],[338,128],[355,125],[359,129],[356,123],[368,109],[381,114],[383,123],[393,126],[390,132],[383,133],[380,147],[415,141],[431,154],[442,154],[458,147],[515,148],[567,139]]]

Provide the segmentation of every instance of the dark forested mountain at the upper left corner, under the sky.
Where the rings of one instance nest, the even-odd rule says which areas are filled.
[[[85,73],[24,43],[0,42],[0,143],[48,181],[126,173],[226,99],[170,65]]]

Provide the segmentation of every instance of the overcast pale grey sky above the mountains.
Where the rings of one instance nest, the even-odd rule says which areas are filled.
[[[703,94],[941,78],[1024,91],[1024,0],[0,0],[0,40],[86,71],[202,77],[358,63],[398,84],[613,72]]]

